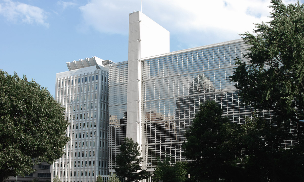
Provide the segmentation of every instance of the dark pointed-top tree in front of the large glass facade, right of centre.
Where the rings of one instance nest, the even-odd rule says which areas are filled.
[[[222,117],[222,109],[214,101],[201,104],[192,126],[186,131],[186,142],[182,144],[183,154],[192,159],[189,163],[192,178],[197,181],[237,180],[241,133],[239,125]]]

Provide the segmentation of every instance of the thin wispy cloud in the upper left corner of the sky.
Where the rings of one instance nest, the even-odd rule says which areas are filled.
[[[5,0],[0,3],[0,15],[4,16],[8,21],[18,23],[33,24],[34,22],[45,27],[49,27],[46,21],[47,15],[43,9],[20,2]]]

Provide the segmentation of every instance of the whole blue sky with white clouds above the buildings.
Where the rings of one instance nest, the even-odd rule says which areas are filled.
[[[294,4],[295,0],[285,0]],[[300,3],[303,3],[300,1]],[[170,51],[239,39],[269,21],[268,0],[143,0],[143,13],[170,32]],[[66,62],[128,58],[129,13],[140,0],[0,0],[0,69],[25,74],[54,96]]]

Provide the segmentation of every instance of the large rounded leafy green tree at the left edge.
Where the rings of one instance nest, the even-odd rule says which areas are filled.
[[[30,174],[35,163],[63,155],[68,141],[63,111],[33,79],[0,70],[0,181]]]

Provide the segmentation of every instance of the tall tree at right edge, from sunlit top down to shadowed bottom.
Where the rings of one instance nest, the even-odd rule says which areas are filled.
[[[299,2],[271,3],[272,19],[256,24],[257,36],[241,34],[250,45],[244,55],[248,61],[237,59],[238,67],[230,76],[245,104],[273,113],[272,118],[254,114],[244,126],[247,181],[302,181],[304,8]],[[293,145],[285,149],[285,143]]]

